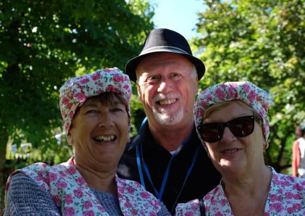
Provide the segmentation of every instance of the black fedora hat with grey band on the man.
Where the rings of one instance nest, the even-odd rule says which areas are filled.
[[[195,65],[198,79],[201,79],[205,73],[203,62],[193,56],[187,40],[178,32],[166,28],[157,28],[148,34],[141,53],[130,59],[125,65],[125,73],[135,82],[137,80],[136,67],[141,59],[145,56],[159,52],[177,53],[186,57]]]

